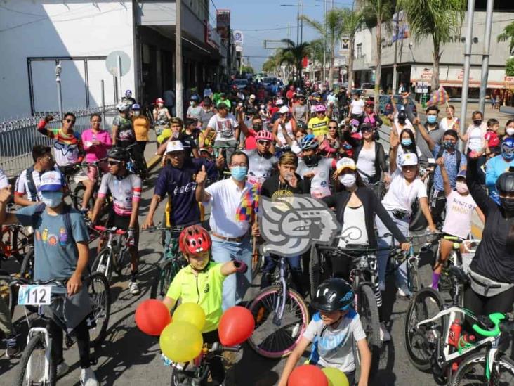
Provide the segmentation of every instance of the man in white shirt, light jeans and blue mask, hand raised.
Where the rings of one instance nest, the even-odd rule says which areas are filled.
[[[195,195],[198,202],[211,205],[212,257],[217,263],[242,260],[249,266],[245,274],[230,275],[223,282],[223,310],[235,306],[244,298],[251,285],[251,243],[250,221],[240,218],[244,198],[253,187],[246,181],[248,156],[237,151],[230,157],[229,167],[232,177],[218,181],[205,188],[205,167],[197,174]],[[253,205],[252,205],[253,206]],[[253,214],[253,207],[251,209]],[[250,216],[251,217],[251,216]],[[240,221],[241,220],[241,221]]]

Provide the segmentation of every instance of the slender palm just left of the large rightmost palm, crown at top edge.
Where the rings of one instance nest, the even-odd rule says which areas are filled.
[[[393,0],[364,0],[363,9],[368,27],[376,25],[375,95],[378,95],[382,75],[382,24],[386,23],[386,27],[390,24],[394,4]],[[375,109],[378,110],[378,103]]]

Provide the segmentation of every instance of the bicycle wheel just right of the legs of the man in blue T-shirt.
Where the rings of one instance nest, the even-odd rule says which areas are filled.
[[[94,272],[88,285],[89,298],[93,308],[96,327],[89,330],[91,345],[99,346],[105,339],[111,312],[111,295],[109,282],[104,274]]]

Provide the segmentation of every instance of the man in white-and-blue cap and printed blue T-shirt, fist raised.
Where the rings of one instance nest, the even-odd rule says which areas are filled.
[[[91,303],[86,283],[89,234],[84,218],[62,200],[65,181],[60,172],[50,171],[41,176],[39,195],[41,204],[23,207],[15,214],[6,213],[11,198],[9,189],[0,192],[0,224],[16,224],[34,228],[34,281],[68,278],[65,288],[55,286],[50,306],[44,306],[47,316],[55,315],[65,321],[67,333],[77,338],[82,385],[98,385],[89,356],[88,316]],[[62,297],[66,300],[61,302]],[[59,301],[55,301],[55,300]],[[52,355],[58,375],[64,375],[69,366],[62,354],[62,329],[48,320],[52,336]]]

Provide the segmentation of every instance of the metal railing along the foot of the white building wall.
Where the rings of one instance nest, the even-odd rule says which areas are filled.
[[[73,129],[79,133],[91,127],[89,118],[93,113],[102,115],[102,124],[107,131],[111,130],[112,120],[117,115],[115,105],[107,105],[105,110],[99,107],[71,110],[71,112],[77,117]],[[54,120],[48,123],[47,127],[51,129],[60,128],[60,117],[53,113],[52,115]],[[53,139],[39,134],[37,131],[37,124],[43,117],[44,115],[39,115],[0,122],[0,169],[3,169],[8,177],[17,176],[22,170],[27,169],[34,163],[32,160],[32,146],[36,144],[53,145]]]

